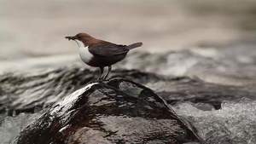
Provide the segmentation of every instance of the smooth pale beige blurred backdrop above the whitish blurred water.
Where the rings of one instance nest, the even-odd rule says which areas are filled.
[[[77,54],[79,32],[153,53],[255,46],[255,18],[254,0],[1,0],[0,60]]]

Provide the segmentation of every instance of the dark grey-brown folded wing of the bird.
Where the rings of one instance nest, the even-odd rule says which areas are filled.
[[[90,44],[88,49],[91,54],[101,55],[101,56],[120,55],[120,54],[127,53],[129,51],[126,45],[118,45],[118,44],[108,43],[108,42]]]

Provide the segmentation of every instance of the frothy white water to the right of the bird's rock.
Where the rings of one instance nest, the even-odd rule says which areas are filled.
[[[188,118],[208,144],[256,143],[256,101],[224,101],[221,109],[212,111],[202,111],[189,102],[173,109]]]

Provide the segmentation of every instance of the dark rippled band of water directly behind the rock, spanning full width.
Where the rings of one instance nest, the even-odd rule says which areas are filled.
[[[0,113],[34,112],[49,107],[66,95],[96,79],[98,72],[67,66],[28,73],[0,75]],[[161,76],[137,70],[114,70],[111,78],[129,78],[156,91],[169,104],[179,101],[208,103],[219,108],[222,101],[256,99],[256,85],[228,86],[209,84],[198,78]]]

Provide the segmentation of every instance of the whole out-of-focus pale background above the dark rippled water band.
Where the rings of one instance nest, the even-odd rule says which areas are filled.
[[[2,0],[0,7],[0,72],[89,68],[64,38],[86,32],[112,43],[143,42],[113,69],[256,84],[253,0]]]

